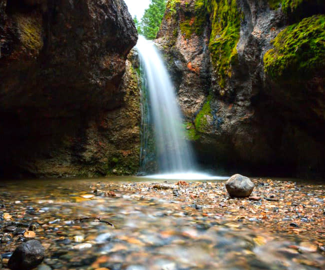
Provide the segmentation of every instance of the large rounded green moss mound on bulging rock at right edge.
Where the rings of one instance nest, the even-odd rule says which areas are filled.
[[[282,30],[264,55],[264,70],[272,78],[309,78],[325,68],[325,15],[304,18]]]

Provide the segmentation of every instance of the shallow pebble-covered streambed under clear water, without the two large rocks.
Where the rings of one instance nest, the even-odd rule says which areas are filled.
[[[42,270],[324,269],[324,185],[253,181],[255,200],[212,180],[2,181],[2,267],[35,238]]]

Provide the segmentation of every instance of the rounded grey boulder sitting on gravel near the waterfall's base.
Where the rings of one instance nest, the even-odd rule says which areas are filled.
[[[225,183],[231,197],[248,197],[254,189],[254,183],[240,174],[232,175]]]

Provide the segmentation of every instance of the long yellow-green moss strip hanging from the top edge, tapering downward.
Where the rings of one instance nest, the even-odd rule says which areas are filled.
[[[209,50],[221,89],[231,77],[231,65],[237,61],[241,12],[236,0],[205,0],[210,14],[211,35]]]

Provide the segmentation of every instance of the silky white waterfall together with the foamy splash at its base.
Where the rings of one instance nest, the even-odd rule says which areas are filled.
[[[152,172],[155,159],[163,174],[151,178],[223,179],[197,173],[194,155],[185,138],[174,87],[162,58],[152,41],[139,36],[136,48],[140,55],[142,86],[141,162],[143,172]],[[153,131],[152,131],[153,130]],[[154,139],[152,138],[154,133]],[[152,146],[155,144],[154,151]]]

